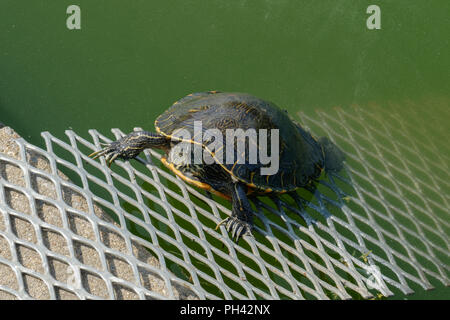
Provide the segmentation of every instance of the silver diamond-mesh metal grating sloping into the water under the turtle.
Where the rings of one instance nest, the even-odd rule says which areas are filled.
[[[444,118],[447,109],[439,109]],[[346,166],[324,177],[314,194],[299,191],[300,206],[287,196],[255,199],[254,236],[238,244],[223,226],[215,230],[231,214],[230,204],[186,185],[161,165],[158,152],[111,168],[87,157],[100,142],[122,136],[117,129],[111,139],[96,130],[89,139],[66,131],[65,141],[44,132],[46,150],[18,139],[19,159],[0,153],[0,169],[23,175],[14,182],[0,170],[0,247],[7,248],[0,250],[0,274],[11,275],[0,280],[0,293],[20,299],[350,299],[448,286],[449,146],[434,139],[447,134],[439,114],[424,120],[367,107],[298,116],[345,151]],[[38,178],[50,193],[38,187]],[[59,223],[45,218],[43,204]],[[74,219],[82,223],[76,227]],[[19,220],[33,236],[18,231]],[[115,247],[108,232],[122,245]],[[67,249],[52,247],[48,233]],[[128,273],[117,271],[117,261]],[[33,281],[44,289],[33,291]]]

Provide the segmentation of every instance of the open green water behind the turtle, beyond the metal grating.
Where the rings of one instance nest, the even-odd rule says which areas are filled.
[[[448,107],[447,0],[80,0],[81,30],[66,28],[70,4],[0,0],[0,122],[38,145],[42,131],[153,129],[173,101],[206,90],[249,92],[291,114]],[[381,30],[366,28],[370,4]],[[448,298],[436,285],[412,298]]]

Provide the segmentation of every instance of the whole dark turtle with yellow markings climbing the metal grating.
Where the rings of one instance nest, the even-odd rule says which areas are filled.
[[[195,132],[196,121],[197,124],[199,122],[202,124],[201,130],[197,132]],[[247,233],[251,234],[254,228],[250,197],[281,193],[297,195],[298,188],[317,181],[323,170],[325,172],[341,170],[345,159],[342,150],[328,138],[316,138],[293,120],[286,110],[247,93],[221,91],[191,93],[173,103],[157,117],[155,129],[156,132],[131,132],[117,141],[106,144],[103,149],[92,153],[89,157],[95,159],[104,156],[110,166],[116,158],[133,159],[146,148],[162,149],[165,152],[161,158],[162,163],[177,176],[231,201],[231,216],[221,221],[216,229],[224,224],[235,241],[239,241]],[[239,154],[238,151],[242,150],[238,150],[233,144],[227,149],[227,152],[231,150],[233,160],[219,161],[221,159],[217,157],[218,150],[212,150],[209,147],[210,143],[215,139],[219,143],[222,139],[221,148],[225,150],[230,146],[231,140],[221,138],[220,135],[218,138],[205,135],[204,140],[192,137],[199,132],[206,134],[210,129],[215,129],[215,133],[225,136],[226,133],[239,129],[245,130],[244,132],[249,132],[249,129],[268,130],[266,138],[270,143],[266,141],[264,144],[266,149],[274,145],[271,138],[272,130],[278,130],[278,140],[273,140],[278,143],[276,155],[279,162],[278,170],[275,173],[262,174],[262,169],[267,168],[262,159],[249,161],[250,152],[245,153],[245,150],[253,145],[260,151],[263,144],[261,139],[251,139],[252,136],[237,137],[241,142],[242,139],[246,140],[245,155]],[[180,130],[184,130],[190,136],[186,138],[179,135]],[[210,156],[210,161],[205,159],[192,161],[192,157],[186,156],[189,152],[193,156],[192,150],[180,152],[188,150],[183,148],[189,146],[200,148],[205,155]],[[237,161],[239,155],[241,158]]]

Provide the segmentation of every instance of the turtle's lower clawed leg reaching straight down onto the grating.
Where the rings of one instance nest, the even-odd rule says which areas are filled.
[[[217,230],[222,224],[225,224],[225,228],[228,232],[231,232],[231,237],[236,242],[253,229],[253,212],[247,198],[246,188],[241,182],[231,184],[231,217],[224,219],[216,227]]]

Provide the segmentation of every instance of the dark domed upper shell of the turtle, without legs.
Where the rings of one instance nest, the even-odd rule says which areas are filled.
[[[264,191],[286,192],[305,186],[311,179],[317,178],[324,166],[324,154],[321,145],[299,124],[291,120],[286,111],[275,104],[246,93],[224,93],[217,91],[190,94],[176,101],[155,121],[158,133],[172,138],[179,129],[187,129],[194,137],[194,122],[201,121],[202,130],[219,129],[225,137],[227,129],[247,130],[253,128],[268,130],[267,150],[271,150],[270,129],[279,129],[279,170],[272,175],[262,175],[261,168],[270,164],[259,161],[249,164],[249,153],[245,154],[245,163],[226,163],[221,166],[234,178],[252,188]],[[195,138],[189,142],[197,143]],[[256,143],[252,139],[246,142]],[[226,140],[223,141],[226,149]],[[201,146],[208,149],[206,142]],[[235,146],[235,157],[238,150]],[[260,146],[258,146],[260,147]],[[210,154],[215,158],[214,151]],[[224,153],[225,154],[225,153]],[[216,159],[218,160],[218,159]]]

